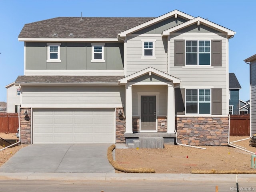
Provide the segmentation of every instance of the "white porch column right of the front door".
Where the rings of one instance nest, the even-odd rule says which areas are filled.
[[[175,115],[174,115],[174,88],[168,85],[168,100],[167,100],[167,133],[174,134]]]

